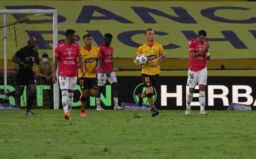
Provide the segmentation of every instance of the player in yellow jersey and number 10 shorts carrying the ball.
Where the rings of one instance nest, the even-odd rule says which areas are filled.
[[[142,65],[143,68],[141,71],[142,81],[144,87],[146,87],[146,91],[142,94],[138,94],[138,105],[141,107],[143,104],[143,98],[147,97],[152,117],[155,117],[159,112],[154,108],[153,90],[158,80],[159,73],[161,72],[160,63],[165,62],[166,56],[162,45],[154,41],[155,34],[152,29],[149,28],[145,31],[145,38],[147,39],[147,42],[138,48],[137,54],[133,59],[133,62],[139,65],[136,61],[137,55],[144,54],[147,57],[147,62]]]

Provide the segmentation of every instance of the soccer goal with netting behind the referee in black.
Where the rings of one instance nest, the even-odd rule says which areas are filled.
[[[44,53],[49,55],[49,62],[53,63],[53,51],[58,42],[56,25],[57,10],[0,10],[0,98],[4,97],[6,90],[17,89],[15,77],[19,67],[11,59],[20,48],[27,45],[28,37],[34,37],[37,41],[40,63],[43,62],[41,57]],[[37,94],[32,109],[54,108],[54,86],[51,80],[38,76],[36,68],[34,62]],[[7,102],[26,108],[28,96],[29,91],[25,86],[20,98],[9,97]]]

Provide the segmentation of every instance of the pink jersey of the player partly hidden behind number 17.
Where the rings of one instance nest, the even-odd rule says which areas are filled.
[[[111,73],[114,72],[112,67],[112,60],[113,60],[113,46],[109,45],[109,47],[105,46],[104,44],[100,45],[100,56],[102,57],[102,63],[105,66],[106,70]],[[105,73],[102,67],[99,65],[98,69],[99,73]]]

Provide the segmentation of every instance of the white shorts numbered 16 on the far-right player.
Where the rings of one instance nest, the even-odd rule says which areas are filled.
[[[188,81],[187,85],[189,88],[195,88],[196,86],[200,84],[207,85],[207,67],[200,71],[191,71],[188,69]]]

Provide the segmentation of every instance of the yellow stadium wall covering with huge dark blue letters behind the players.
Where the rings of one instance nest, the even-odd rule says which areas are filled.
[[[93,45],[97,47],[103,43],[100,38],[105,33],[111,33],[114,37],[112,45],[114,46],[115,59],[113,63],[115,68],[119,65],[121,67],[137,67],[132,63],[132,58],[137,50],[134,45],[146,42],[143,32],[147,28],[152,28],[155,31],[156,42],[162,44],[165,48],[168,59],[161,64],[161,68],[186,68],[188,64],[188,41],[191,39],[190,37],[196,38],[194,35],[202,29],[207,31],[207,40],[210,42],[211,47],[211,60],[208,61],[209,68],[220,68],[221,65],[224,65],[224,67],[256,68],[256,3],[236,1],[216,3],[204,0],[204,5],[201,4],[202,2],[200,1],[151,1],[149,3],[136,1],[134,3],[134,1],[101,0],[1,0],[0,9],[21,9],[21,7],[23,7],[22,9],[57,9],[60,18],[58,23],[59,32],[65,32],[67,29],[76,30],[77,35],[80,37],[80,40],[77,41],[80,46],[83,46],[81,37],[84,34],[94,31]],[[87,14],[88,7],[90,11],[93,11],[93,14],[90,18],[85,18],[84,15]],[[148,14],[152,18],[151,21],[145,22],[145,19],[135,12],[136,7],[144,7],[152,11],[153,13]],[[86,8],[87,10],[85,10]],[[214,8],[217,8],[214,11],[215,17],[207,17],[202,13],[214,10]],[[180,12],[183,13],[181,14]],[[159,15],[156,13],[159,13]],[[108,19],[110,15],[115,16],[116,19]],[[168,15],[169,18],[166,17]],[[182,20],[180,18],[182,15],[190,16],[187,19],[190,21]],[[36,29],[43,30],[44,26],[36,25]],[[130,38],[127,37],[129,34],[124,34],[126,32],[131,33],[132,36]],[[193,36],[189,36],[192,33]],[[0,34],[2,35],[2,32]],[[230,41],[220,40],[230,35],[235,37],[237,41],[231,43]],[[44,38],[45,40],[50,40],[49,37],[48,35]],[[65,40],[65,36],[59,34],[58,40]],[[131,42],[132,46],[125,41]],[[168,46],[170,44],[174,44],[177,47]],[[3,52],[2,40],[0,45],[0,52]],[[52,44],[50,45],[52,46]],[[50,52],[50,58],[53,58],[53,50],[47,51]],[[14,53],[15,51],[8,52],[8,65],[12,64],[10,59]],[[3,59],[2,55],[0,59]]]

